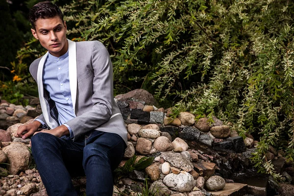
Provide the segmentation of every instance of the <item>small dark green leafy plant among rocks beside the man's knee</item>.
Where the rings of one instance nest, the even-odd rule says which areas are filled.
[[[154,157],[142,157],[136,162],[137,156],[134,155],[129,160],[127,160],[123,167],[117,168],[115,173],[120,176],[127,175],[128,173],[137,170],[143,171],[147,168],[154,160]]]

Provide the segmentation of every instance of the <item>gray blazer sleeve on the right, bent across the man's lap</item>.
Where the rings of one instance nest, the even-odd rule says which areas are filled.
[[[113,70],[109,53],[102,43],[94,41],[91,58],[94,72],[93,106],[89,111],[66,123],[73,131],[73,141],[107,122],[112,115]]]

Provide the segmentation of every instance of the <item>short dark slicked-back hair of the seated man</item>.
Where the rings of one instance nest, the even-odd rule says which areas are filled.
[[[48,19],[59,16],[63,22],[63,13],[56,4],[53,4],[50,1],[43,1],[35,4],[28,13],[28,20],[31,23],[32,27],[36,29],[37,19]]]

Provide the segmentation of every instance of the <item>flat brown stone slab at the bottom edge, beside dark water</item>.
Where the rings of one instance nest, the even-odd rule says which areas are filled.
[[[211,196],[245,196],[247,185],[241,183],[225,183],[221,191],[208,192]]]

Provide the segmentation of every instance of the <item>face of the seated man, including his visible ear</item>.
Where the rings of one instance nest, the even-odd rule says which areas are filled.
[[[67,52],[66,24],[59,16],[37,19],[35,27],[36,29],[31,29],[33,36],[50,54],[59,57]]]

